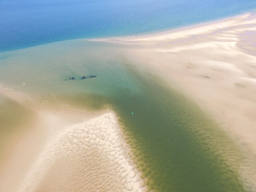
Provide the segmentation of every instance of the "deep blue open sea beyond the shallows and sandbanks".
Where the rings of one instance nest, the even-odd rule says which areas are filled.
[[[0,0],[0,52],[155,32],[241,14],[256,0]]]

